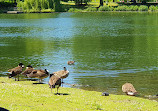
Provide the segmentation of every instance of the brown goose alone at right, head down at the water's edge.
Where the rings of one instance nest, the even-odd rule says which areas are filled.
[[[130,96],[134,96],[137,94],[137,91],[131,83],[125,83],[124,85],[122,85],[122,91]]]

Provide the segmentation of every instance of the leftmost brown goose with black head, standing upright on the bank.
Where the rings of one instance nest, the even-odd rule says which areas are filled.
[[[15,77],[15,81],[16,81],[16,76],[18,75],[18,81],[19,81],[19,74],[22,73],[23,68],[24,68],[24,64],[19,63],[17,67],[8,70],[8,72],[10,72],[8,77],[9,78]]]

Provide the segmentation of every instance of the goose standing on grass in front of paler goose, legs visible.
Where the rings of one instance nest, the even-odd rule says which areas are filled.
[[[49,88],[51,88],[51,93],[52,93],[52,88],[57,87],[57,94],[58,94],[58,89],[61,86],[61,79],[54,74],[50,74],[48,85]]]

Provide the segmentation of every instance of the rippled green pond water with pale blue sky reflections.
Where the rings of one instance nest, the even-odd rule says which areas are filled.
[[[50,72],[65,66],[64,81],[75,87],[123,94],[130,82],[141,96],[156,95],[158,13],[0,14],[0,60],[1,76],[19,62]]]

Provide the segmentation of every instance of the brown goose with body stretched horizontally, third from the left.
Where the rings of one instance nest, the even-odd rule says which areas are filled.
[[[48,70],[33,70],[30,74],[26,74],[29,78],[38,78],[39,82],[41,82],[42,79],[48,77],[49,72]]]

